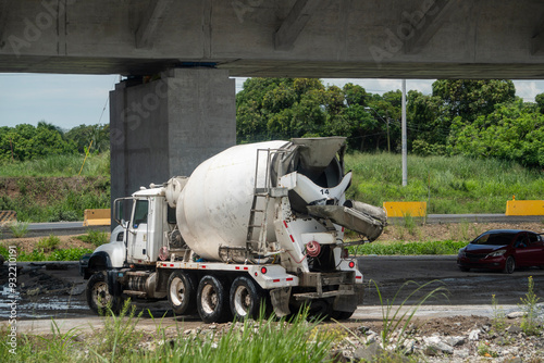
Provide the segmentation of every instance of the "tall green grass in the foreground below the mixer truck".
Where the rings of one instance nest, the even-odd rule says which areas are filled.
[[[77,328],[62,333],[52,321],[47,336],[17,331],[16,348],[10,351],[10,331],[0,330],[0,356],[3,362],[55,363],[331,361],[330,349],[336,335],[326,334],[326,329],[307,323],[305,317],[297,315],[290,323],[283,318],[246,321],[227,330],[190,335],[176,326],[174,337],[166,337],[165,328],[158,327],[141,339],[145,334],[136,327],[139,315],[125,304],[120,316],[108,314],[104,328],[95,329],[90,336]]]

